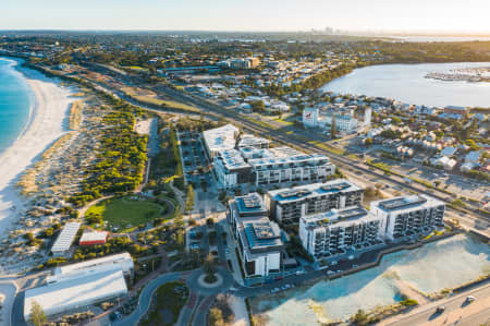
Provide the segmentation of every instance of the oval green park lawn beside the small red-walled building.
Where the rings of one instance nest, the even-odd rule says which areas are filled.
[[[159,204],[148,201],[135,201],[125,196],[97,203],[88,208],[86,215],[100,214],[103,220],[108,221],[109,226],[119,227],[124,231],[131,226],[135,227],[151,222],[155,218],[160,217],[164,210],[166,207]]]

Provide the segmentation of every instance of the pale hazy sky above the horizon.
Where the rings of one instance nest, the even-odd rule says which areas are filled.
[[[490,0],[0,0],[0,29],[490,32]]]

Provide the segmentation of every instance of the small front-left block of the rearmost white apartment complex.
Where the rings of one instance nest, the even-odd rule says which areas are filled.
[[[213,169],[218,184],[222,189],[234,189],[250,181],[252,167],[236,149],[218,152]]]

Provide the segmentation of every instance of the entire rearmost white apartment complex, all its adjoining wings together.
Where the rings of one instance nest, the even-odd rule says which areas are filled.
[[[203,135],[221,189],[234,189],[244,183],[267,186],[319,182],[335,172],[335,166],[324,155],[304,154],[287,146],[268,148],[268,140],[253,135],[238,140],[237,132],[235,126],[226,124],[205,131]]]

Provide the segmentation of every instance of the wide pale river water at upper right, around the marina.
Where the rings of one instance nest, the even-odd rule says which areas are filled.
[[[490,83],[437,81],[430,72],[489,67],[490,62],[380,64],[354,70],[322,86],[340,94],[381,96],[411,105],[490,107]]]

